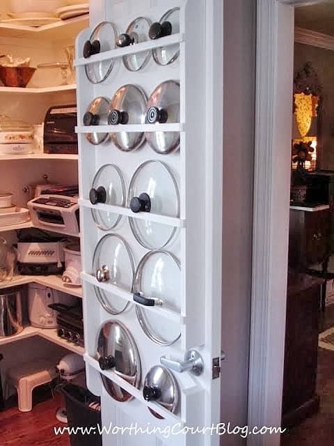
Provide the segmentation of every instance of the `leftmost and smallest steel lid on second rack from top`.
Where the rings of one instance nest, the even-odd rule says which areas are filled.
[[[83,116],[84,125],[106,125],[108,124],[109,100],[103,96],[95,98],[88,105]],[[86,138],[95,146],[109,138],[109,133],[86,133]]]

